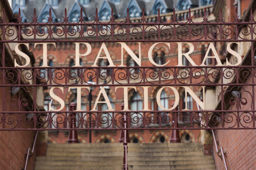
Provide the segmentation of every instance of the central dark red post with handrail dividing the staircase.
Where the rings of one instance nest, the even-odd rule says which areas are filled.
[[[124,103],[122,103],[121,105],[121,110],[124,109]],[[128,153],[128,146],[127,144],[130,143],[130,138],[129,138],[129,133],[128,130],[126,130],[127,128],[127,117],[125,113],[122,113],[123,118],[123,125],[122,127],[124,128],[124,130],[121,130],[120,133],[120,139],[119,139],[119,143],[123,143],[123,170],[128,170],[128,165],[127,165],[127,153]]]

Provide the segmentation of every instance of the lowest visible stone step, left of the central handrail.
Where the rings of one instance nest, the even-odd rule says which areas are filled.
[[[123,165],[117,166],[35,166],[35,170],[122,170]]]

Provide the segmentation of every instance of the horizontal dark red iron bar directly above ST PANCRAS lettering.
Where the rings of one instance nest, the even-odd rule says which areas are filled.
[[[111,37],[109,35],[109,37]],[[0,42],[254,42],[250,40],[0,40]]]

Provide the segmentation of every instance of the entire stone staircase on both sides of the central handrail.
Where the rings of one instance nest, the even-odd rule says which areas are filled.
[[[122,143],[48,144],[35,170],[122,170]],[[129,170],[215,170],[200,143],[129,143]]]

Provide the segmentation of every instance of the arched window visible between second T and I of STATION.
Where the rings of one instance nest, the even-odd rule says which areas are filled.
[[[132,111],[142,110],[141,97],[137,92],[133,93],[133,96],[131,97],[130,101],[131,101],[130,110]],[[142,118],[143,117],[141,117],[140,114],[131,113],[131,126],[141,125]]]

